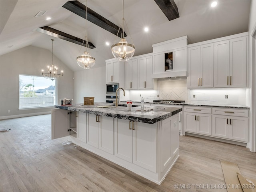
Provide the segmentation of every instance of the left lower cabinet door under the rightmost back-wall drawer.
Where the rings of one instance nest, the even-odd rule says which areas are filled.
[[[212,115],[212,136],[229,138],[229,117]]]

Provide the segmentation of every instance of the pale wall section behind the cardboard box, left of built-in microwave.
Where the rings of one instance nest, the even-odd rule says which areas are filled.
[[[84,103],[84,97],[106,102],[106,66],[74,72],[74,103]]]

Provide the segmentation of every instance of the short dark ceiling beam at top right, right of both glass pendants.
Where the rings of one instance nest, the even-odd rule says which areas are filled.
[[[178,7],[174,0],[154,0],[168,20],[179,18]]]

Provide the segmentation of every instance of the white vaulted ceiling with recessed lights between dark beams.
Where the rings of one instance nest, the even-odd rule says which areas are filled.
[[[38,32],[49,26],[71,36],[85,38],[85,19],[62,7],[66,0],[0,0],[0,54],[32,45],[52,51],[52,36]],[[85,0],[79,0],[85,4]],[[134,56],[152,52],[152,44],[188,36],[189,44],[248,31],[250,0],[218,0],[215,8],[210,0],[174,0],[179,16],[168,20],[154,0],[124,0],[126,39],[135,45]],[[122,0],[88,0],[88,8],[113,24],[122,24]],[[42,10],[43,16],[35,17]],[[46,20],[51,17],[51,20]],[[144,27],[149,28],[144,32]],[[130,32],[130,35],[129,35]],[[119,38],[107,30],[87,22],[88,41],[96,47],[90,54],[94,67],[105,66],[113,58],[111,45]],[[84,46],[54,37],[54,55],[71,70],[83,70],[76,57]],[[110,45],[106,46],[106,42]]]

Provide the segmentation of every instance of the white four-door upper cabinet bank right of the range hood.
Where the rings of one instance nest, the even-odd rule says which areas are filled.
[[[188,88],[246,88],[248,32],[188,45]]]

